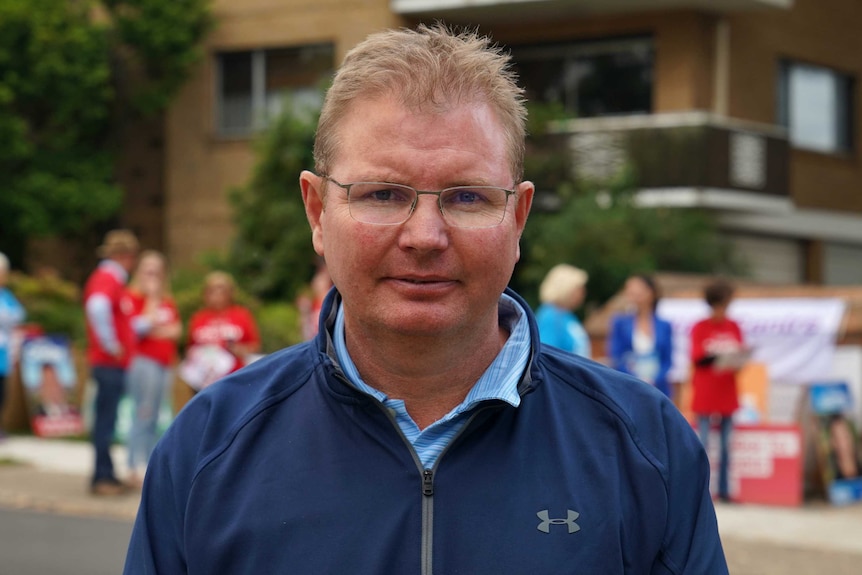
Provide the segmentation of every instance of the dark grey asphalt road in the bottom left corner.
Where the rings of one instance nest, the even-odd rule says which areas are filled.
[[[117,575],[132,522],[0,507],[4,575]]]

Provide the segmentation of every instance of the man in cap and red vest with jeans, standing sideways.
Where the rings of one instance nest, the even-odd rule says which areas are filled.
[[[104,258],[84,286],[87,320],[87,360],[96,381],[91,440],[96,462],[90,490],[94,495],[120,495],[126,491],[114,473],[111,443],[117,407],[125,389],[125,372],[134,347],[128,316],[121,309],[129,273],[135,266],[138,240],[128,230],[113,230],[99,247]]]

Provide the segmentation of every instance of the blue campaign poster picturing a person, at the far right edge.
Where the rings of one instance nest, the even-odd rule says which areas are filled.
[[[809,389],[819,466],[829,501],[862,501],[862,440],[851,417],[853,396],[846,382],[826,382]]]

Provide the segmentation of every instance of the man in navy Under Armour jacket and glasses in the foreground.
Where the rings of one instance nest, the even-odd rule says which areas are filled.
[[[727,572],[690,426],[542,347],[506,290],[524,120],[508,58],[474,34],[347,55],[300,176],[335,286],[320,333],[186,405],[127,574]]]

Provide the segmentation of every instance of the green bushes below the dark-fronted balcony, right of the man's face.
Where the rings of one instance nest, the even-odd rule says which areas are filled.
[[[636,205],[629,173],[610,182],[561,184],[558,211],[534,211],[513,283],[535,304],[545,273],[569,263],[590,274],[585,309],[612,297],[634,273],[738,272],[712,216]]]

